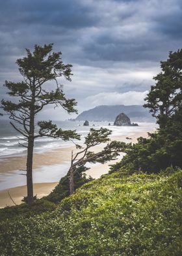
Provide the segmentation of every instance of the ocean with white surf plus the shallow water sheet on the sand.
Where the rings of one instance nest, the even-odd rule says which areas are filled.
[[[138,123],[138,126],[131,127],[116,127],[112,126],[112,122],[109,121],[90,121],[89,126],[83,126],[84,121],[54,121],[62,129],[76,130],[81,135],[81,144],[84,142],[85,136],[90,131],[90,127],[99,129],[100,127],[106,127],[112,130],[111,136],[131,136],[137,132],[153,131],[157,125],[155,123]],[[19,146],[18,142],[25,144],[22,140],[23,136],[10,125],[8,120],[0,120],[0,190],[10,187],[16,187],[26,184],[26,177],[22,174],[21,170],[14,170],[14,172],[2,172],[2,161],[10,161],[10,157],[26,155],[27,151],[25,147]],[[78,141],[75,141],[78,142]],[[38,138],[35,140],[34,153],[50,152],[57,148],[68,148],[73,146],[73,142],[64,142],[55,138]],[[58,182],[62,176],[68,172],[70,162],[64,162],[61,165],[44,165],[34,170],[33,182]]]

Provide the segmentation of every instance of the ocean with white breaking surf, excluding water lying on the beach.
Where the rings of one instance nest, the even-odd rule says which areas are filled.
[[[95,129],[106,127],[112,130],[112,136],[129,136],[133,135],[135,131],[152,131],[154,127],[156,127],[155,123],[138,123],[138,127],[116,127],[112,125],[109,126],[109,121],[90,121],[89,126],[83,126],[84,121],[54,121],[54,123],[64,130],[76,130],[77,133],[81,135],[81,142],[83,142],[84,137],[88,134],[90,127]],[[26,148],[19,146],[18,144],[18,142],[21,142],[21,144],[26,143],[22,138],[23,136],[19,135],[12,125],[10,125],[10,121],[0,120],[0,159],[3,157],[25,155]],[[43,153],[49,150],[54,150],[55,148],[65,148],[68,146],[73,146],[73,143],[48,137],[37,138],[34,144],[34,153]]]

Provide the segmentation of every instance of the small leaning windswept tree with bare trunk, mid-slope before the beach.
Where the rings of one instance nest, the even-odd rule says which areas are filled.
[[[116,159],[120,152],[127,152],[127,149],[131,147],[131,144],[125,144],[125,142],[118,142],[116,140],[110,141],[109,135],[112,131],[106,128],[90,129],[90,132],[85,137],[83,146],[76,144],[79,152],[73,154],[70,174],[70,195],[75,191],[75,174],[82,168],[83,172],[86,170],[84,167],[86,163],[107,163],[108,161]],[[106,143],[107,145],[103,150],[99,152],[90,151],[94,147]]]

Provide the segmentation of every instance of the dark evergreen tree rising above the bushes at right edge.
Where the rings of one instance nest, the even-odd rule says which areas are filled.
[[[160,127],[165,127],[168,118],[182,106],[182,49],[170,52],[166,61],[161,61],[162,71],[153,79],[144,107],[157,118]]]

